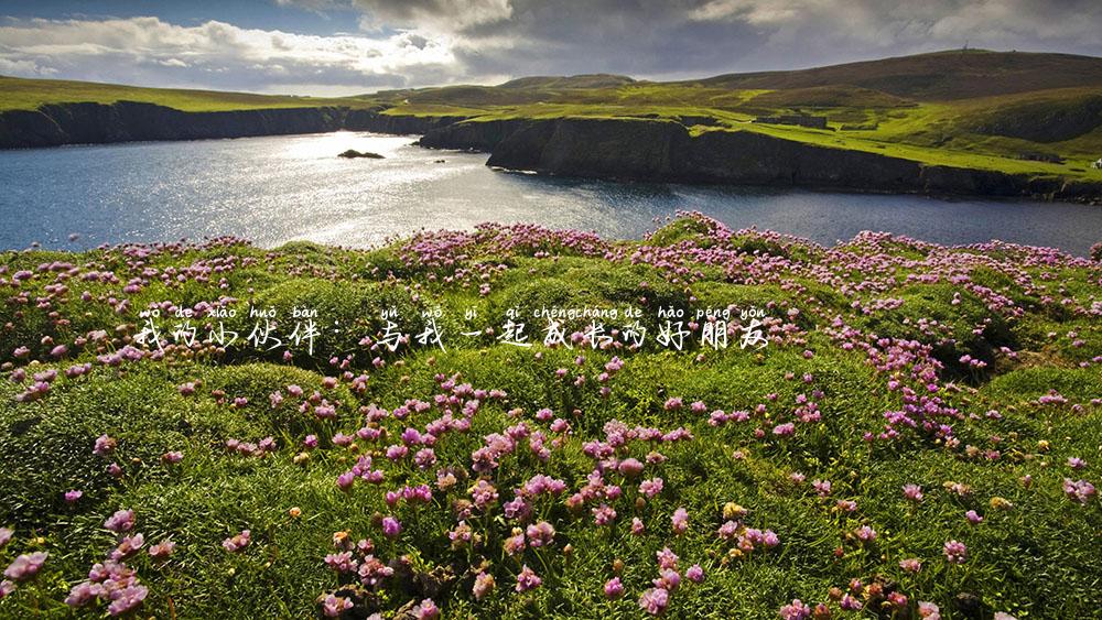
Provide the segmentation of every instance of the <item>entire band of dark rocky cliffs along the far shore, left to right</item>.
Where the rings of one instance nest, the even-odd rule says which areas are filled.
[[[0,149],[339,129],[422,134],[423,146],[484,151],[490,153],[487,165],[544,174],[1102,202],[1102,183],[1098,182],[930,166],[749,131],[692,135],[684,124],[660,119],[475,121],[348,108],[183,112],[132,101],[66,104],[0,112]]]

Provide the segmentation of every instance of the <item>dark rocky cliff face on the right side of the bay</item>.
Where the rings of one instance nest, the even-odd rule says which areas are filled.
[[[1098,202],[1102,184],[928,165],[752,131],[692,135],[662,120],[548,119],[455,122],[421,144],[490,152],[487,165],[543,174],[862,192],[1031,196]]]

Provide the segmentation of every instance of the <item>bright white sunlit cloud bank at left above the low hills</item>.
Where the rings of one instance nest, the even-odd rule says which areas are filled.
[[[20,20],[0,26],[0,68],[159,86],[299,91],[310,84],[344,91],[446,81],[452,41],[402,31],[385,36],[318,36],[208,21],[181,26],[158,18]]]

